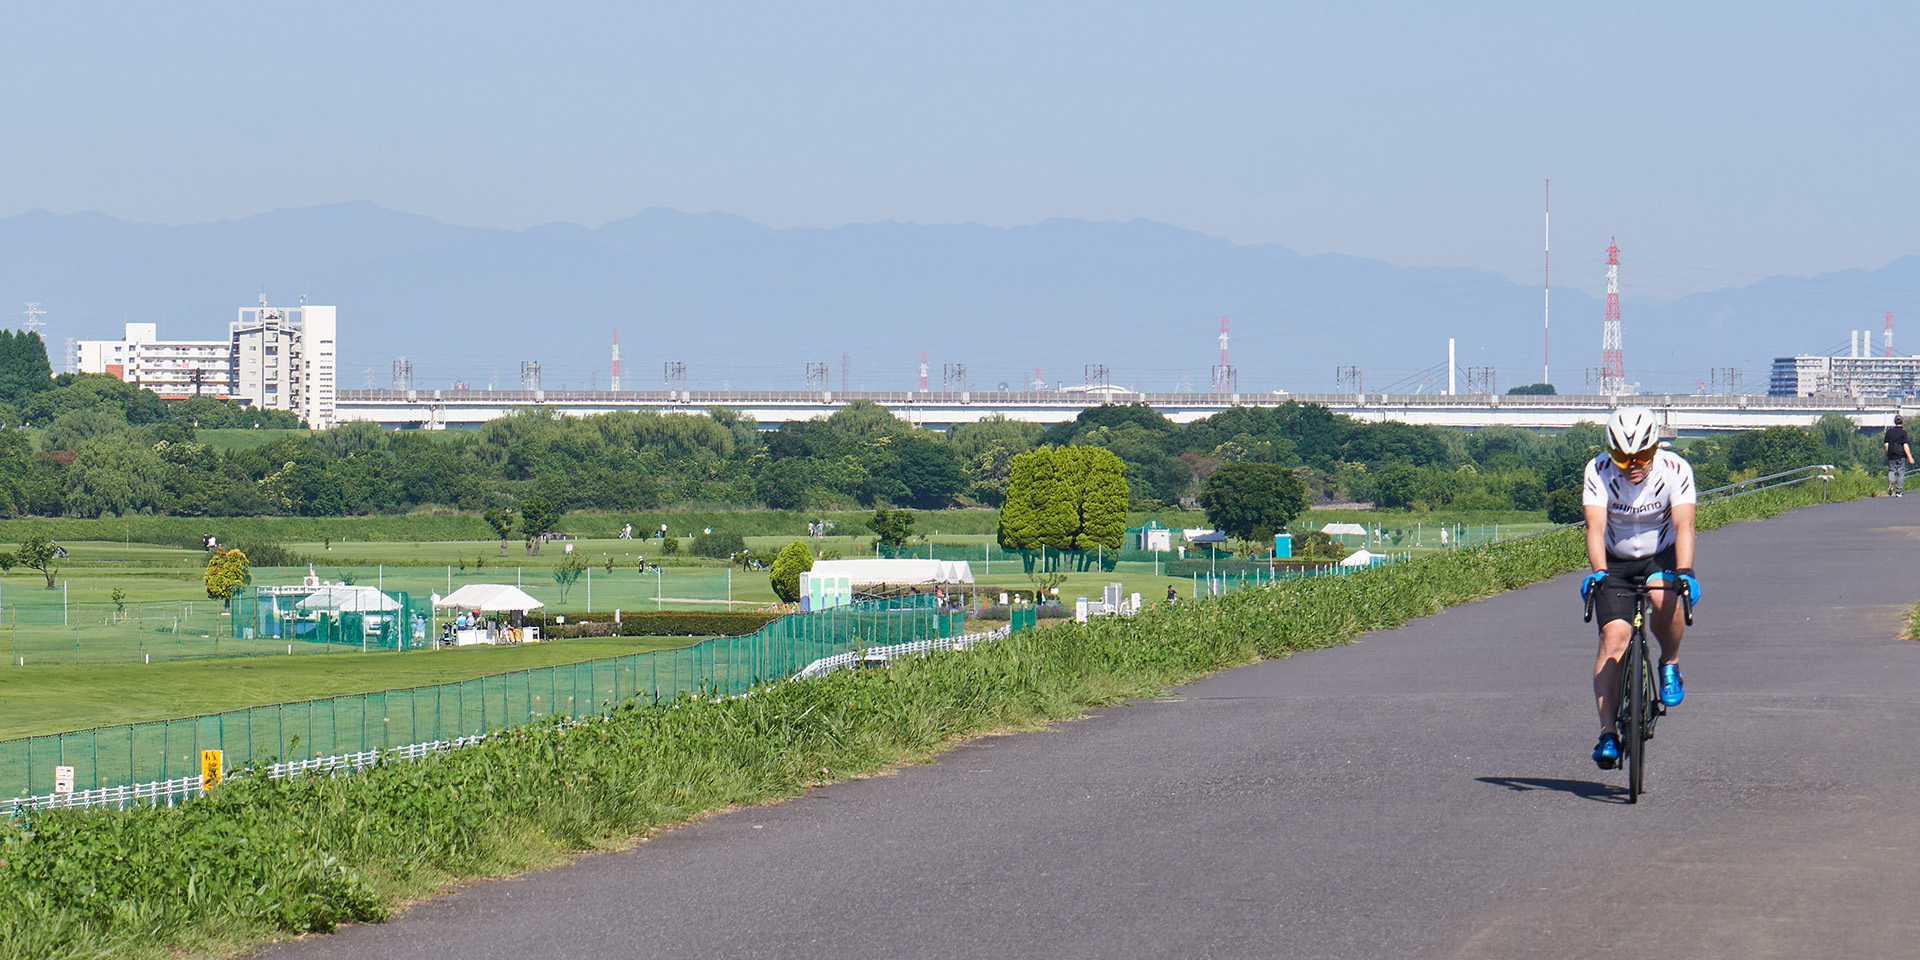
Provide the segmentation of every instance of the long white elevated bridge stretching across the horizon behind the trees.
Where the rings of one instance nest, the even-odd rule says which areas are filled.
[[[1899,397],[1764,397],[1764,396],[1446,396],[1446,394],[1135,394],[1125,390],[1058,392],[806,392],[806,390],[342,390],[338,420],[372,420],[388,428],[472,428],[518,409],[588,417],[612,411],[701,413],[712,407],[753,417],[762,426],[828,417],[849,403],[874,401],[918,426],[947,428],[991,417],[1068,422],[1102,403],[1144,403],[1173,422],[1194,422],[1235,407],[1317,403],[1357,420],[1475,430],[1505,424],[1565,430],[1605,422],[1620,405],[1651,407],[1670,436],[1766,426],[1811,426],[1828,413],[1862,430],[1885,428],[1903,411]],[[1908,413],[1920,411],[1912,407]]]

